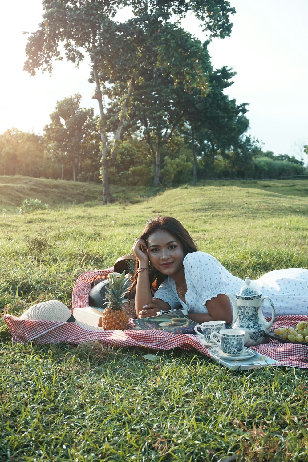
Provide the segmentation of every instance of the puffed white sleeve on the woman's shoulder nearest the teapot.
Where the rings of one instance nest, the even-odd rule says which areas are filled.
[[[233,276],[212,255],[193,252],[186,255],[183,263],[187,290],[197,292],[197,303],[205,305],[212,297],[228,292],[229,276]]]

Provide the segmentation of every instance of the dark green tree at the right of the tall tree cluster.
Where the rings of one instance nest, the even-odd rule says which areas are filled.
[[[242,137],[249,126],[245,116],[248,111],[247,104],[237,105],[235,99],[230,100],[223,92],[232,85],[230,79],[235,73],[228,67],[213,70],[210,66],[207,74],[209,91],[206,97],[200,97],[194,91],[185,103],[187,122],[191,128],[194,184],[197,176],[197,157],[201,160],[204,175],[211,176],[218,154],[223,158],[229,156],[230,164],[235,164],[241,162],[243,153],[247,152],[248,141],[244,141]]]

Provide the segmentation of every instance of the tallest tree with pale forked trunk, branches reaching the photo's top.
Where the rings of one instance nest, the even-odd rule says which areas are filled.
[[[62,44],[66,59],[76,66],[85,55],[90,58],[101,116],[103,202],[108,203],[111,200],[108,171],[115,163],[131,97],[140,83],[139,70],[152,49],[158,48],[159,52],[159,47],[153,48],[157,34],[164,31],[172,15],[182,18],[192,12],[212,36],[228,36],[232,25],[229,15],[235,9],[226,0],[43,0],[42,3],[43,20],[28,39],[24,69],[31,75],[35,75],[36,69],[52,72],[53,60],[63,59]],[[116,8],[127,5],[132,7],[133,19],[116,23]],[[165,33],[161,36],[164,37],[164,51],[169,36]],[[159,55],[159,64],[168,65],[163,56],[163,53]],[[111,134],[108,133],[110,98],[106,96],[117,83],[123,82],[126,85],[119,99],[118,123]]]

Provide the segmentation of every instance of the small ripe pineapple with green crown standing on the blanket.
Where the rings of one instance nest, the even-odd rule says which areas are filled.
[[[127,314],[122,305],[128,301],[124,296],[130,284],[131,279],[128,275],[125,276],[125,271],[119,278],[116,274],[109,274],[109,287],[106,288],[105,296],[107,307],[102,316],[104,330],[127,329]]]

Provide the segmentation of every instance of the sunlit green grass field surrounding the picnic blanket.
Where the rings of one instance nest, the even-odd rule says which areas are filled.
[[[87,270],[130,253],[146,219],[181,220],[200,250],[257,278],[308,267],[308,182],[116,188],[0,176],[0,311],[71,307]],[[49,204],[18,215],[25,198]],[[152,352],[156,353],[156,352]],[[0,320],[0,461],[306,461],[308,370],[229,371],[199,354],[12,344]]]

